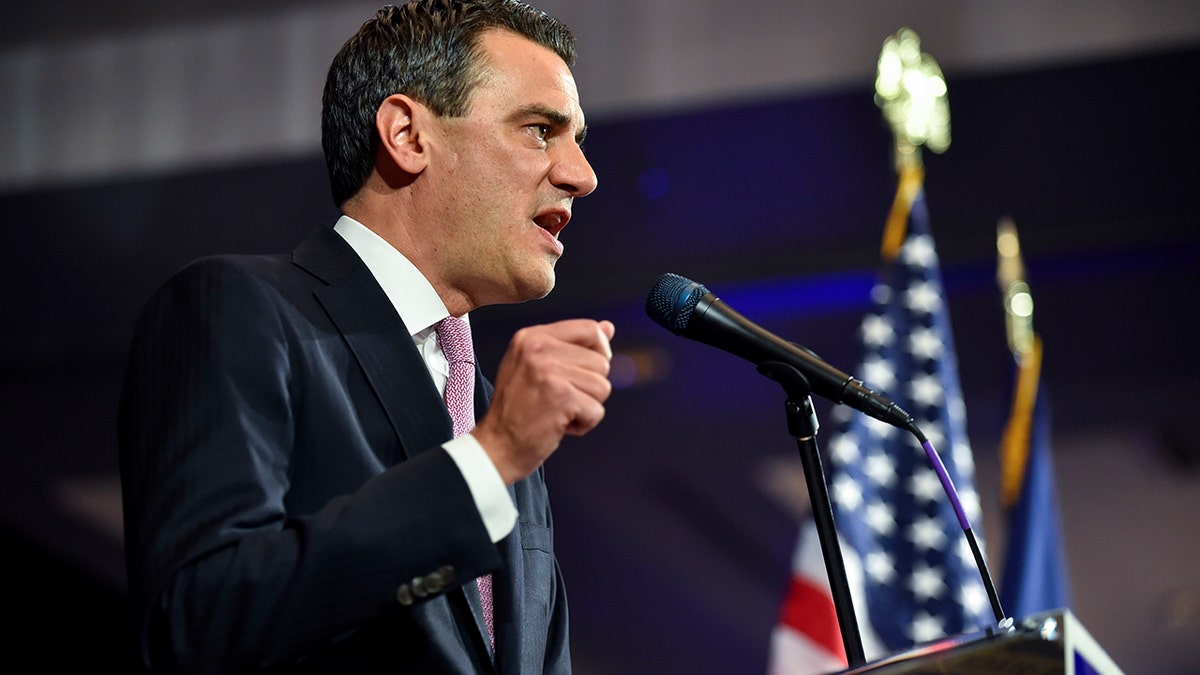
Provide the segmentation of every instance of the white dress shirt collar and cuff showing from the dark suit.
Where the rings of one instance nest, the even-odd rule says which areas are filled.
[[[438,392],[445,395],[450,364],[438,346],[434,330],[439,321],[450,316],[445,303],[403,253],[361,222],[342,216],[334,226],[334,232],[346,239],[379,282],[413,335],[413,342],[425,359]],[[467,315],[462,319],[469,323]],[[470,434],[463,434],[442,447],[458,465],[458,471],[467,480],[492,542],[508,537],[517,521],[516,504],[484,447]]]

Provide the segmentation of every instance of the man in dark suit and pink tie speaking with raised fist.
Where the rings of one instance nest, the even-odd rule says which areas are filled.
[[[553,287],[596,184],[572,60],[511,0],[382,10],[326,80],[335,227],[151,298],[119,423],[151,670],[570,670],[541,465],[601,420],[613,327],[518,331],[473,429],[440,327]]]

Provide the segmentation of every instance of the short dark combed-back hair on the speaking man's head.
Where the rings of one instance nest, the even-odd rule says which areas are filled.
[[[320,143],[335,204],[346,203],[371,174],[379,142],[374,117],[384,98],[404,94],[438,115],[467,113],[480,77],[480,36],[488,29],[510,30],[575,64],[570,29],[516,0],[389,5],[346,41],[322,96]]]

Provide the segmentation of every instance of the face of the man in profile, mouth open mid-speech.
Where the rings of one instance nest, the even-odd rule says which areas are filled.
[[[503,30],[481,37],[482,78],[466,117],[440,118],[426,169],[445,288],[470,306],[541,298],[563,255],[571,201],[596,186],[566,64]]]

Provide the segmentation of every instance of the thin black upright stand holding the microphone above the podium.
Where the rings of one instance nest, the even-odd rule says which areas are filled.
[[[846,566],[838,543],[838,527],[833,521],[833,503],[829,501],[829,486],[826,483],[824,470],[821,467],[821,454],[817,450],[816,411],[810,398],[812,388],[809,381],[796,368],[779,362],[758,364],[758,372],[779,382],[787,394],[785,408],[787,412],[787,432],[796,438],[800,452],[800,464],[804,467],[804,480],[809,488],[809,503],[812,507],[812,519],[817,527],[817,539],[824,556],[826,573],[829,575],[829,591],[838,615],[838,627],[841,629],[841,644],[846,649],[846,661],[851,668],[866,663],[863,652],[863,637],[854,617],[854,602],[850,595],[850,583],[846,579]]]

